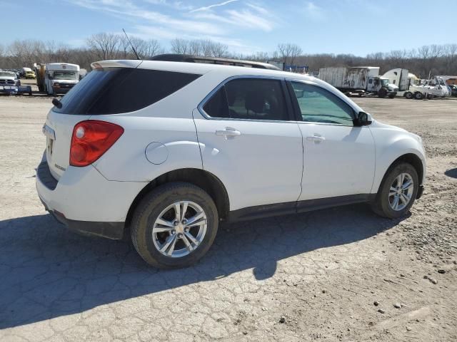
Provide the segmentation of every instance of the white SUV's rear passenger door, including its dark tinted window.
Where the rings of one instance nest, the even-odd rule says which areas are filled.
[[[224,183],[230,209],[290,202],[301,192],[303,146],[285,82],[234,78],[194,110],[201,157]]]

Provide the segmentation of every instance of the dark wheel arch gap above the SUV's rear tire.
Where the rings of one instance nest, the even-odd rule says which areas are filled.
[[[230,202],[229,202],[229,194],[226,190],[224,184],[219,180],[211,172],[201,169],[195,168],[184,168],[184,169],[177,169],[172,170],[169,172],[156,177],[154,180],[151,180],[140,192],[136,195],[134,201],[132,202],[129,212],[127,212],[126,216],[126,229],[129,229],[131,219],[135,212],[136,207],[138,206],[141,199],[143,199],[146,194],[154,190],[154,188],[158,187],[159,185],[163,185],[166,183],[171,182],[188,182],[197,187],[201,187],[201,189],[208,192],[211,198],[214,200],[216,204],[217,211],[219,213],[219,218],[226,219],[227,215],[229,214]],[[124,236],[126,234],[124,233]]]

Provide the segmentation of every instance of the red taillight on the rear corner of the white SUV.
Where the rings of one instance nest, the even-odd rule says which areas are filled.
[[[114,123],[86,120],[77,123],[71,135],[70,165],[87,166],[95,162],[124,133]]]

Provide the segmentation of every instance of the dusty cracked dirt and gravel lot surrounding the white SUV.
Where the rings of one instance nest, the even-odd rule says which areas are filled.
[[[409,217],[361,204],[226,225],[199,264],[157,271],[46,214],[50,99],[0,96],[0,341],[456,341],[457,100],[356,101],[423,137]]]

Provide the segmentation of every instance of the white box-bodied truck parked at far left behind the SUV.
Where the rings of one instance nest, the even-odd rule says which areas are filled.
[[[65,94],[79,82],[79,66],[70,63],[35,63],[36,85],[48,95]]]

